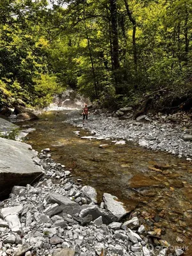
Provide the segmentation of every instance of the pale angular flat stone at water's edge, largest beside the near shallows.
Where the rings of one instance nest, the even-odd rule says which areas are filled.
[[[104,193],[103,200],[104,207],[116,217],[116,220],[121,220],[126,214],[129,213],[124,204],[120,202],[116,196]]]

